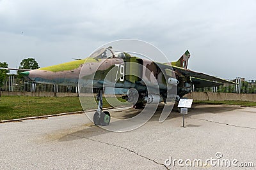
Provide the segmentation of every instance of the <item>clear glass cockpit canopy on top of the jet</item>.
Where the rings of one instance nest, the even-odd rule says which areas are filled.
[[[125,54],[124,52],[120,52],[118,50],[115,50],[109,47],[109,48],[100,48],[96,52],[92,53],[90,57],[92,57],[93,59],[111,59],[111,58],[125,59]]]

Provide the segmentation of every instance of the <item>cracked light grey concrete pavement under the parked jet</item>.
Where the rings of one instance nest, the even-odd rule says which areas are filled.
[[[203,167],[166,164],[170,158],[217,159],[220,152],[219,160],[237,159],[239,166],[253,162],[254,167],[237,169],[255,169],[256,108],[195,104],[186,117],[186,128],[180,127],[180,113],[173,111],[161,124],[159,114],[130,132],[106,131],[84,114],[0,124],[0,168],[235,169],[209,162]]]

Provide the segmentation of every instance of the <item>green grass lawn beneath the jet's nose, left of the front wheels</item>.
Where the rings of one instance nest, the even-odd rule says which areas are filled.
[[[83,98],[86,103],[86,99]],[[90,98],[92,101],[92,99]],[[91,102],[88,102],[91,103]],[[103,99],[103,107],[110,105]],[[97,105],[83,104],[84,110],[97,108]],[[67,113],[83,111],[79,97],[31,97],[31,96],[1,96],[0,97],[0,120],[14,118],[36,117],[52,115],[56,113]]]

